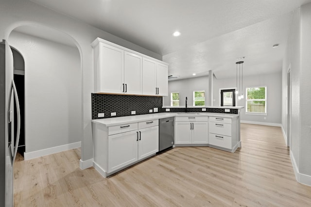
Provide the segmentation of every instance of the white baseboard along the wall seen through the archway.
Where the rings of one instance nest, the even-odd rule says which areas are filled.
[[[62,152],[62,151],[66,151],[69,149],[75,149],[78,147],[81,147],[81,142],[64,144],[64,145],[55,146],[55,147],[51,147],[47,149],[41,149],[41,150],[34,151],[34,152],[25,152],[24,159],[29,160],[29,159],[39,158],[42,156],[51,155],[57,152]]]

